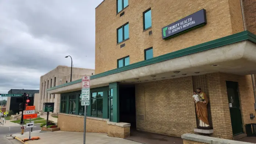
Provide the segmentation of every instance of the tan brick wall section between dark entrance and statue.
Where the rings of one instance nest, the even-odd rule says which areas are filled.
[[[192,76],[136,84],[139,130],[180,137],[196,127]]]

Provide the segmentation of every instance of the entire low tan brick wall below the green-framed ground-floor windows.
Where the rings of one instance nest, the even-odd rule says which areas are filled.
[[[80,115],[58,114],[58,127],[62,131],[83,132],[84,117]],[[108,119],[86,118],[86,132],[107,133],[110,137],[125,138],[130,136],[130,127],[121,127],[107,123]]]

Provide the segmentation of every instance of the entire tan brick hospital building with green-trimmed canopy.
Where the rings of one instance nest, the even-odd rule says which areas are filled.
[[[252,3],[104,0],[96,8],[96,75],[86,112],[81,79],[47,89],[61,94],[58,127],[83,132],[86,113],[87,132],[113,137],[127,137],[130,129],[245,136],[245,125],[256,122]],[[197,88],[209,98],[209,126],[196,114]]]

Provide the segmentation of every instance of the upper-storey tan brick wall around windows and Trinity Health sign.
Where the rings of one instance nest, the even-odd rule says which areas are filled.
[[[129,0],[120,17],[116,0],[105,0],[96,8],[96,74],[117,68],[117,59],[130,56],[130,64],[144,60],[144,49],[153,47],[153,56],[195,46],[240,32],[239,0]],[[143,32],[143,12],[152,10],[152,28]],[[204,8],[207,25],[168,40],[161,38],[161,28]],[[106,12],[108,11],[108,12]],[[122,12],[123,12],[122,11]],[[242,15],[241,11],[240,14]],[[232,17],[232,18],[231,18]],[[117,28],[129,22],[129,40],[117,44]],[[234,24],[234,26],[232,26]],[[152,35],[149,31],[152,30]],[[120,48],[125,43],[125,47]]]

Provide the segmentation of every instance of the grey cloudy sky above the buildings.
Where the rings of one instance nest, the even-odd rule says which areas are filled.
[[[39,90],[57,65],[95,68],[95,8],[103,0],[0,0],[0,93]],[[86,57],[85,57],[86,55]]]

